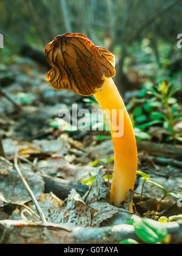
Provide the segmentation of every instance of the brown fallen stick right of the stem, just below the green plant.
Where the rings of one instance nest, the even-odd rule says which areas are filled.
[[[137,146],[140,151],[149,152],[151,155],[182,158],[182,146],[167,143],[153,143],[150,141],[138,141]]]

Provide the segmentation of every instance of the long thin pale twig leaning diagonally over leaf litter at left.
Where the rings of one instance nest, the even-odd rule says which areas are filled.
[[[45,219],[44,213],[42,212],[41,208],[39,207],[39,204],[38,204],[38,201],[36,200],[35,195],[33,194],[33,192],[32,192],[32,190],[30,189],[28,183],[27,183],[26,180],[24,179],[24,176],[22,176],[21,170],[19,169],[17,154],[15,154],[14,164],[15,164],[16,171],[17,171],[18,174],[19,174],[19,177],[21,177],[22,183],[24,183],[25,188],[27,189],[27,191],[29,192],[30,196],[32,197],[32,201],[33,201],[33,203],[35,204],[35,207],[36,207],[37,212],[39,213],[39,216],[41,217],[42,223],[43,223],[43,224],[46,224],[47,221],[46,221],[46,219]]]

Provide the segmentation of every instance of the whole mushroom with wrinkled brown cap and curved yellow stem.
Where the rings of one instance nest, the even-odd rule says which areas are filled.
[[[47,44],[45,54],[52,67],[46,76],[50,86],[83,96],[93,94],[109,116],[115,152],[110,200],[119,207],[135,185],[137,148],[129,114],[111,78],[116,73],[115,56],[86,36],[71,33],[58,35]]]

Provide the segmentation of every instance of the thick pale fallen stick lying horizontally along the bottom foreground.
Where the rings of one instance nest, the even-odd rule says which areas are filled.
[[[182,221],[165,224],[171,244],[181,244]],[[117,244],[125,239],[140,243],[133,226],[117,225],[109,227],[66,227],[55,224],[36,225],[28,221],[0,221],[0,241],[2,244]]]

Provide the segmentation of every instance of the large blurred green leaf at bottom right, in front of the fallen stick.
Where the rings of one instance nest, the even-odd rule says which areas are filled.
[[[152,219],[136,220],[134,224],[135,233],[145,243],[156,244],[167,236],[167,229]]]

